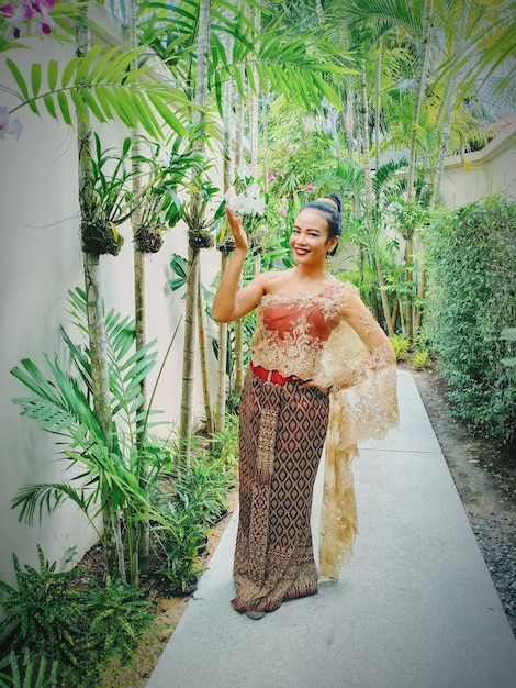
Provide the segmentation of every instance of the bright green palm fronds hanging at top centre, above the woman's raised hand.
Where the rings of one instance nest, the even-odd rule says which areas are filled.
[[[192,51],[199,23],[199,1],[139,2],[141,41],[170,66],[178,79],[190,84]],[[269,14],[265,4],[256,9]],[[233,38],[226,52],[223,37]],[[326,74],[346,74],[344,57],[324,38],[318,29],[296,34],[279,12],[266,30],[249,19],[247,8],[213,2],[211,8],[211,45],[209,54],[210,91],[222,115],[224,82],[234,79],[243,98],[247,89],[255,92],[284,92],[306,110],[322,108],[322,97],[340,109],[335,89]]]

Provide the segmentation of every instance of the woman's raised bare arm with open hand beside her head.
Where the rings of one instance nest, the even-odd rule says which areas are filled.
[[[242,218],[235,215],[227,206],[226,217],[235,240],[235,251],[213,299],[212,318],[217,322],[232,322],[243,318],[256,307],[265,293],[261,275],[253,279],[243,289],[238,289],[248,248],[247,236],[242,225]]]

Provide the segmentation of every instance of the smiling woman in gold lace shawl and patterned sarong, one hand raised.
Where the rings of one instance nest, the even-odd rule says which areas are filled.
[[[283,600],[317,592],[310,517],[327,435],[319,574],[338,579],[357,532],[349,464],[359,439],[381,436],[397,421],[395,357],[358,290],[325,269],[341,233],[337,196],[298,214],[294,267],[263,273],[242,289],[247,237],[242,218],[231,208],[226,215],[235,252],[212,315],[231,322],[258,307],[240,400],[232,604],[260,619]]]

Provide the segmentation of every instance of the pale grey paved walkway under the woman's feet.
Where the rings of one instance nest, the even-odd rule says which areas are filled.
[[[516,641],[410,374],[399,390],[399,428],[355,462],[360,534],[340,581],[238,614],[234,517],[147,688],[516,687]]]

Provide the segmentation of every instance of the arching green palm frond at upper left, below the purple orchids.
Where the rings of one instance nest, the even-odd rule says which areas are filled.
[[[12,3],[14,7],[20,4],[19,1]],[[96,4],[104,3],[98,1]],[[81,23],[85,19],[83,10],[82,2],[56,3],[49,16],[63,33],[45,32],[45,40],[70,41],[75,33],[74,22]],[[23,41],[15,35],[7,37],[9,26],[4,16],[0,12],[0,52],[29,47],[26,37]],[[88,21],[92,25],[91,20]],[[0,85],[0,90],[18,100],[7,114],[19,116],[20,110],[29,108],[34,114],[46,113],[71,126],[76,110],[86,123],[91,116],[100,123],[119,120],[127,127],[141,125],[158,140],[165,123],[184,135],[187,127],[181,123],[180,110],[188,99],[182,89],[171,82],[164,84],[161,78],[153,76],[149,67],[127,70],[135,60],[143,60],[145,52],[145,46],[126,51],[124,47],[90,46],[88,43],[87,49],[68,64],[61,66],[56,59],[46,64],[33,63],[29,75],[23,74],[14,59],[7,57],[4,76],[9,74],[12,84]]]

